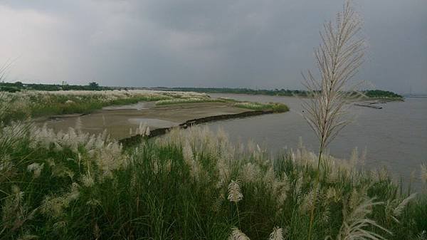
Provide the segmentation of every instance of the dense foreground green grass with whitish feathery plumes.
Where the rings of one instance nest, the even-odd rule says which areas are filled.
[[[317,155],[266,152],[200,127],[124,148],[106,132],[2,125],[0,239],[307,239],[314,203],[313,239],[426,236],[425,192],[359,157],[323,155],[313,187]]]

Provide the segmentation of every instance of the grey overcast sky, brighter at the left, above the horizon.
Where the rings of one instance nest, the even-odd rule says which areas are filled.
[[[8,81],[302,88],[342,0],[0,0]],[[427,0],[355,0],[374,88],[427,93]]]

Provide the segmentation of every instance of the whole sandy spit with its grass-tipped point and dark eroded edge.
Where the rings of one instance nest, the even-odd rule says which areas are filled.
[[[100,134],[103,131],[115,140],[132,137],[145,132],[148,127],[150,135],[160,135],[172,127],[187,127],[201,122],[246,118],[253,115],[284,113],[288,107],[277,103],[248,103],[233,100],[212,101],[201,103],[170,103],[140,102],[135,105],[111,106],[87,115],[57,115],[37,118],[36,124],[47,125],[55,131],[66,131],[69,127],[78,127],[83,132]],[[181,99],[178,99],[181,101]],[[246,103],[246,104],[245,104]],[[127,142],[127,141],[125,141]]]

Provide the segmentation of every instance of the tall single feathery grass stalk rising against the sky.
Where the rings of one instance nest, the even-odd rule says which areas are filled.
[[[315,51],[320,78],[315,78],[311,71],[302,74],[310,97],[303,103],[304,117],[320,142],[317,160],[319,170],[325,148],[349,122],[344,118],[346,99],[349,97],[347,88],[364,56],[364,39],[357,38],[361,27],[362,21],[350,1],[347,1],[343,11],[337,14],[335,23],[328,21],[320,33],[321,43]],[[320,171],[315,179],[315,189],[319,184],[319,174]],[[315,208],[316,203],[310,214],[308,239],[312,239]]]

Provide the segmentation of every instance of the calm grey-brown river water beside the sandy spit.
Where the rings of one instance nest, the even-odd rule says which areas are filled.
[[[232,141],[254,140],[274,153],[285,147],[297,147],[301,137],[305,147],[317,152],[317,139],[300,115],[300,99],[265,95],[210,95],[213,98],[285,103],[290,107],[288,113],[206,124],[212,130],[222,127]],[[421,163],[427,162],[427,98],[406,98],[404,102],[379,106],[383,108],[353,106],[350,110],[352,122],[332,141],[330,154],[348,159],[355,147],[359,152],[366,148],[367,169],[385,166],[394,177],[402,177],[405,182],[408,182],[411,172],[416,171],[418,178]],[[416,185],[419,186],[419,182]]]

